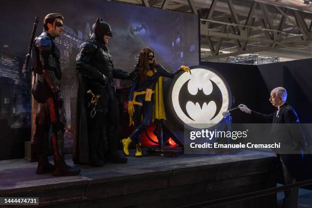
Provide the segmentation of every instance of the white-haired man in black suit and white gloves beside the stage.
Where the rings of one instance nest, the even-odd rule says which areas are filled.
[[[274,113],[258,113],[243,104],[239,105],[239,108],[245,113],[272,123],[271,138],[273,142],[280,142],[282,146],[281,152],[274,151],[278,154],[282,165],[285,184],[292,184],[296,182],[296,179],[300,178],[299,169],[302,166],[303,159],[303,154],[294,154],[294,152],[301,152],[306,143],[298,116],[295,110],[286,102],[286,99],[287,91],[282,87],[277,87],[271,91],[269,99],[272,105],[277,108]],[[283,207],[297,207],[298,188],[287,190],[284,193]]]

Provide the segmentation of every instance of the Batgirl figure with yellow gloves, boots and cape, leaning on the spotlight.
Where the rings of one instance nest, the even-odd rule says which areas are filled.
[[[129,155],[128,146],[136,143],[136,157],[142,157],[141,134],[154,119],[166,119],[163,103],[162,76],[173,78],[180,71],[190,72],[190,68],[181,66],[175,72],[169,72],[155,62],[154,52],[143,48],[138,64],[134,70],[139,73],[137,80],[131,86],[128,98],[128,113],[130,124],[134,124],[131,135],[121,140],[123,152]]]

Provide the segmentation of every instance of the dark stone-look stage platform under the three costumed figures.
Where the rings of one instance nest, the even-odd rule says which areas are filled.
[[[39,197],[39,206],[47,207],[176,207],[275,187],[275,160],[273,153],[253,150],[177,158],[144,155],[128,157],[127,164],[77,166],[81,175],[71,177],[37,175],[37,163],[6,160],[0,161],[0,196]],[[73,165],[71,155],[66,161]],[[270,195],[215,207],[275,203],[276,195]]]

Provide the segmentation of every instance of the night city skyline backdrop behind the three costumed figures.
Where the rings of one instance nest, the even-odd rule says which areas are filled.
[[[38,36],[42,33],[43,17],[53,12],[64,15],[64,32],[55,42],[61,53],[62,96],[67,127],[71,131],[75,128],[78,88],[75,57],[79,46],[89,38],[97,17],[111,25],[113,37],[108,48],[114,59],[114,68],[132,71],[144,47],[153,49],[157,62],[169,71],[178,69],[180,65],[199,64],[198,19],[193,14],[100,0],[79,3],[73,0],[4,2],[0,8],[0,14],[6,17],[0,18],[0,119],[8,119],[4,123],[10,128],[30,127],[30,70],[22,74],[21,69],[35,16],[40,17]],[[115,80],[115,83],[117,89],[131,84],[120,80]],[[118,97],[120,103],[125,103],[125,94]],[[67,145],[72,144],[69,142]]]

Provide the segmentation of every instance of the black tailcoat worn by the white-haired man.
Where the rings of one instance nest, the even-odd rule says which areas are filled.
[[[285,154],[286,150],[294,152],[294,150],[300,151],[306,146],[304,134],[301,131],[299,125],[299,119],[295,110],[285,102],[279,109],[272,114],[262,114],[255,111],[251,111],[251,115],[254,117],[265,119],[268,123],[272,123],[271,139],[273,142],[280,142],[281,146],[289,146],[289,149],[281,148],[282,154],[279,154],[278,150],[274,150],[279,157],[281,157],[283,163],[290,171],[290,173],[296,177],[297,180],[303,178],[303,154]]]

